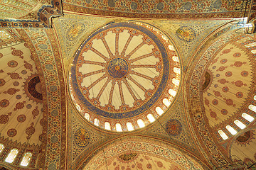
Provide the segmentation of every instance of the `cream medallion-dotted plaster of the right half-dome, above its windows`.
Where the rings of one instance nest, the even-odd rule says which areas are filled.
[[[226,125],[228,118],[240,113],[252,89],[254,58],[241,47],[225,45],[206,70],[203,101],[211,127],[220,128],[221,123]]]

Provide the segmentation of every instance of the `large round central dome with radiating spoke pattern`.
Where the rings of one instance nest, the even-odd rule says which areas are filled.
[[[175,94],[171,97],[169,89],[177,91],[179,79],[178,57],[166,35],[145,23],[121,22],[102,26],[82,42],[69,87],[76,108],[89,113],[91,122],[123,125],[127,118],[158,117],[152,112],[168,108],[163,99],[171,103]]]

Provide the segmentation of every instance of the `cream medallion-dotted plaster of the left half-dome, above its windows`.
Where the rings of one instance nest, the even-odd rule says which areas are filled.
[[[26,42],[0,49],[1,137],[41,145],[41,81]]]

